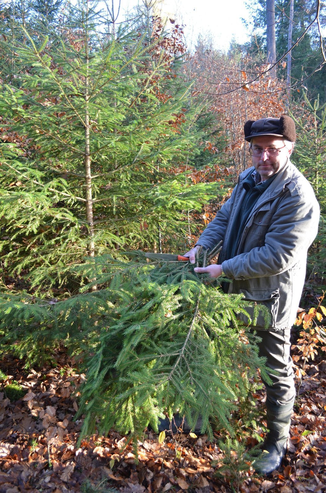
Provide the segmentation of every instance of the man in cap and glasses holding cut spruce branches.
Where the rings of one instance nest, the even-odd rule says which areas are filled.
[[[243,293],[269,311],[267,330],[262,316],[252,326],[261,337],[260,356],[278,372],[269,375],[272,385],[265,383],[269,431],[263,449],[268,454],[257,467],[269,474],[286,452],[295,397],[290,329],[303,288],[307,249],[317,234],[319,205],[290,161],[295,142],[292,118],[250,120],[244,134],[253,167],[239,176],[231,197],[185,255],[195,263],[200,245],[210,249],[223,240],[219,263],[196,267],[195,272],[229,278],[229,293]]]

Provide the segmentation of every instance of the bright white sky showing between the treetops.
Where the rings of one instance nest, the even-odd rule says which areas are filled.
[[[121,9],[131,10],[135,4],[137,0],[121,0]],[[232,37],[239,43],[248,40],[241,22],[249,16],[243,0],[163,0],[162,9],[186,26],[188,47],[195,45],[199,34],[206,39],[211,35],[213,46],[222,50],[228,50]]]

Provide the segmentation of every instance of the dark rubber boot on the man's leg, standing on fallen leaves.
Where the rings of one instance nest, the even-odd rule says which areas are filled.
[[[260,474],[270,474],[281,465],[287,451],[287,440],[290,430],[293,402],[276,406],[266,401],[266,419],[268,433],[262,445],[264,455],[255,468]]]

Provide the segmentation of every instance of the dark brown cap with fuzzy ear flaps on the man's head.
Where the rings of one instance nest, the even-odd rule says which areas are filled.
[[[246,141],[251,141],[259,135],[274,135],[283,137],[287,141],[295,142],[295,124],[288,115],[281,118],[261,118],[261,120],[248,120],[244,125],[244,135]]]

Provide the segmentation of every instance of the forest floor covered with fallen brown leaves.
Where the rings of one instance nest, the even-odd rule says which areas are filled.
[[[241,475],[230,472],[218,478],[223,458],[219,433],[213,441],[207,435],[179,434],[166,435],[159,443],[158,435],[147,431],[137,457],[127,438],[114,431],[78,446],[82,420],[73,420],[78,409],[74,391],[85,375],[64,351],[56,353],[55,367],[29,371],[8,355],[0,362],[6,375],[0,386],[0,493],[323,492],[326,348],[314,349],[314,360],[307,361],[300,346],[293,346],[298,400],[288,452],[279,471],[268,478],[259,477],[250,463]],[[4,392],[12,381],[25,393],[16,402]],[[262,391],[258,399],[263,399]]]

